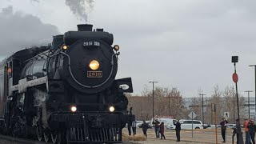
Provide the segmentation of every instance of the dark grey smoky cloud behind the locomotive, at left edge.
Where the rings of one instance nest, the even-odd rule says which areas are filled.
[[[0,12],[0,56],[12,54],[29,46],[48,44],[58,34],[56,26],[43,23],[38,17],[14,12],[7,6]]]

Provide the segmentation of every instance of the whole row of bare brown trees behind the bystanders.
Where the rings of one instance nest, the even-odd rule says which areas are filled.
[[[199,95],[200,94],[200,95]],[[214,104],[216,106],[217,122],[224,117],[224,112],[229,112],[228,121],[233,122],[238,118],[237,98],[233,86],[226,86],[221,89],[218,85],[214,86],[212,92],[207,94],[202,102],[203,91],[198,90],[198,95],[191,98],[191,102],[186,102],[182,92],[176,87],[154,88],[154,115],[171,116],[177,119],[190,119],[188,114],[194,111],[197,114],[195,119],[204,119],[207,124],[214,124]],[[153,92],[146,86],[141,95],[126,95],[129,100],[129,107],[133,107],[133,114],[137,120],[151,120],[153,117]],[[238,94],[240,118],[245,118],[245,98]],[[203,104],[203,106],[202,106]],[[203,107],[203,113],[202,113]]]

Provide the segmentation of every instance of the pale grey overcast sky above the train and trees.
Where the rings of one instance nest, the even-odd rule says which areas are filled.
[[[84,23],[64,0],[37,1],[1,1],[2,58]],[[238,91],[246,95],[254,90],[249,65],[256,64],[255,6],[235,0],[97,0],[87,19],[114,34],[121,47],[117,77],[131,77],[134,94],[158,81],[155,86],[177,87],[185,97],[198,96],[198,89],[210,96],[215,85],[234,86],[231,56],[238,55]]]

